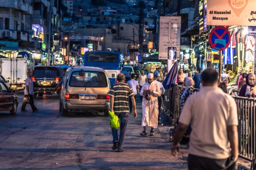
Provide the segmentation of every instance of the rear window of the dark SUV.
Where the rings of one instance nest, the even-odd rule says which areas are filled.
[[[60,72],[55,67],[36,67],[33,71],[33,77],[44,78],[44,77],[59,77]]]

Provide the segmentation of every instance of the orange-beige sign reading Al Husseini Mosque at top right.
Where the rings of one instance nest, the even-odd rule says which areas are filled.
[[[207,25],[255,26],[256,0],[208,0]]]

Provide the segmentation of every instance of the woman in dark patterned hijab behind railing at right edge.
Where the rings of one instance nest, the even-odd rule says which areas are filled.
[[[240,89],[238,96],[255,98],[256,97],[256,86],[254,85],[255,74],[249,73],[246,75],[246,84]]]

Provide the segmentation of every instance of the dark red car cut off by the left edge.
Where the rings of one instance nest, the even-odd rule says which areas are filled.
[[[18,97],[5,85],[4,81],[0,81],[0,111],[9,111],[15,115],[18,107]]]

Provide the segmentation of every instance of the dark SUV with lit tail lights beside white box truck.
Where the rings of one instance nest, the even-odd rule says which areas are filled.
[[[63,70],[52,66],[35,67],[32,73],[34,84],[34,94],[43,96],[44,94],[56,94],[56,86],[64,76]]]

